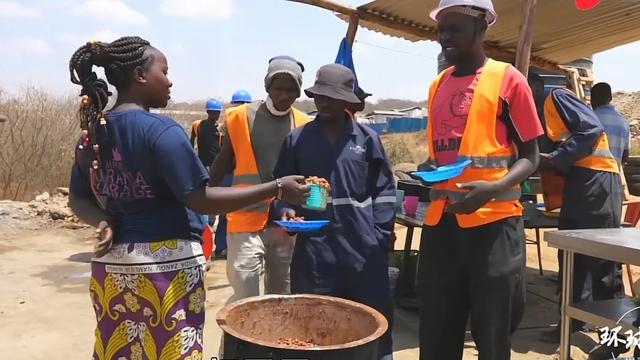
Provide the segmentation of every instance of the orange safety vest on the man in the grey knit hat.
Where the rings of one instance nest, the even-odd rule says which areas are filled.
[[[309,122],[309,117],[303,112],[292,108],[294,127]],[[248,187],[262,184],[256,157],[251,145],[251,131],[247,116],[247,105],[229,109],[227,118],[227,135],[235,154],[236,168],[233,171],[232,187]],[[239,211],[227,214],[227,232],[251,233],[264,229],[269,217],[269,207],[272,199],[264,200]]]

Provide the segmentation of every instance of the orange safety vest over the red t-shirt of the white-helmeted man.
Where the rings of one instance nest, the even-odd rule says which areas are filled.
[[[462,134],[462,142],[458,150],[458,160],[472,160],[462,174],[454,179],[434,184],[431,192],[431,204],[425,214],[424,223],[435,226],[440,222],[448,202],[461,200],[468,190],[459,189],[456,184],[469,181],[496,181],[504,177],[509,168],[517,160],[517,151],[513,145],[504,147],[496,137],[496,119],[500,89],[507,68],[507,63],[488,59],[480,79],[476,85],[467,116],[467,124]],[[453,68],[444,70],[429,89],[429,119],[433,119],[433,108],[436,92],[445,75]],[[428,122],[427,141],[429,160],[435,163],[435,148],[432,141],[433,121]],[[522,215],[520,185],[515,185],[497,198],[489,201],[472,214],[456,214],[458,224],[462,228],[471,228],[512,216]]]

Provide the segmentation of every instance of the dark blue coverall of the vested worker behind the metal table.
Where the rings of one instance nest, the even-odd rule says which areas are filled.
[[[571,137],[562,143],[540,142],[540,151],[551,155],[554,168],[565,177],[560,230],[620,227],[622,182],[613,172],[586,169],[574,163],[591,154],[604,132],[597,115],[570,91],[554,90],[552,97]],[[542,139],[541,139],[542,140]],[[562,253],[558,261],[562,272]],[[560,272],[560,273],[561,273]],[[607,300],[624,294],[619,263],[576,254],[574,261],[573,301]],[[573,330],[582,323],[574,321]]]

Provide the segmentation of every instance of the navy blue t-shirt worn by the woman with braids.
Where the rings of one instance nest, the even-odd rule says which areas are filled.
[[[96,189],[113,219],[114,242],[200,240],[204,223],[184,205],[209,175],[184,129],[171,118],[144,110],[107,116]],[[76,148],[71,192],[96,199],[90,187],[91,149]]]

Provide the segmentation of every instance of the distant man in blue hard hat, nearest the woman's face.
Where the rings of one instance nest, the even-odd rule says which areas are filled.
[[[223,110],[222,101],[209,99],[205,109],[207,118],[194,121],[191,126],[191,146],[198,151],[202,165],[208,169],[220,153],[218,119]]]

